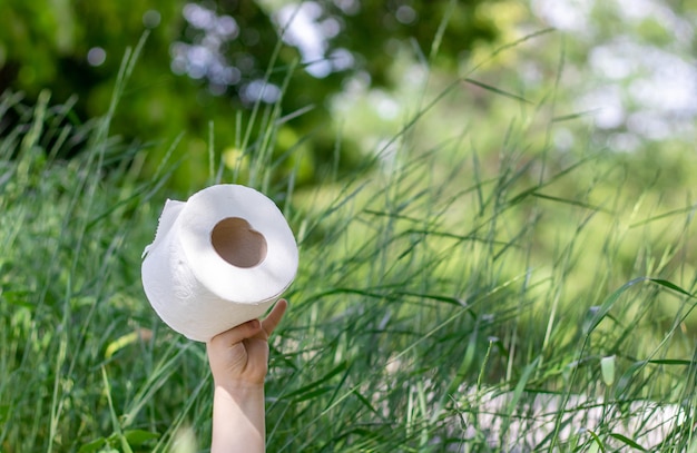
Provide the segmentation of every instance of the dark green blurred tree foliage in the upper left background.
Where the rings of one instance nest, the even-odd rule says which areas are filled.
[[[131,142],[138,137],[173,140],[184,132],[175,150],[180,165],[173,185],[187,190],[208,175],[210,122],[222,163],[259,148],[255,140],[261,129],[240,130],[239,125],[247,124],[257,100],[266,97],[258,115],[276,120],[291,115],[272,137],[274,152],[288,154],[285,166],[296,168],[297,185],[314,184],[326,168],[350,170],[362,160],[357,141],[342,136],[331,121],[332,96],[356,79],[390,86],[403,48],[431,65],[455,68],[473,46],[498,36],[481,6],[481,0],[317,1],[302,8],[262,0],[4,0],[0,91],[23,92],[33,104],[48,88],[51,104],[77,96],[72,121],[98,117],[108,108],[126,49],[147,35],[119,99],[112,134]],[[302,23],[284,35],[291,19]],[[314,53],[303,43],[313,31]],[[431,55],[434,43],[438,55]],[[269,83],[266,91],[264,82]],[[148,160],[159,161],[170,142],[148,146],[154,154]]]

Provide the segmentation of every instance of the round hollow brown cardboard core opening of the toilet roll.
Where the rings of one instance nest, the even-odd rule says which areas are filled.
[[[210,232],[213,248],[227,263],[254,267],[266,258],[266,238],[244,218],[227,217]]]

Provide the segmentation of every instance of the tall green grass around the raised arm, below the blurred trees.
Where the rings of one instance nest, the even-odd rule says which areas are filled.
[[[208,445],[204,346],[157,318],[139,275],[165,198],[186,196],[165,189],[177,163],[148,156],[178,139],[109,136],[124,67],[87,125],[59,126],[67,107],[48,95],[0,101],[20,116],[0,140],[2,452]],[[210,183],[274,197],[301,249],[272,345],[268,451],[648,450],[661,411],[656,450],[697,451],[694,209],[675,164],[652,158],[668,175],[639,181],[640,156],[590,139],[560,154],[554,118],[582,116],[503,88],[488,96],[514,110],[505,127],[484,118],[422,146],[459,86],[425,87],[373,165],[315,188],[272,174],[276,107],[238,116],[234,166],[210,144]],[[254,121],[262,137],[244,134]]]

